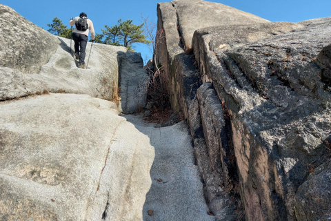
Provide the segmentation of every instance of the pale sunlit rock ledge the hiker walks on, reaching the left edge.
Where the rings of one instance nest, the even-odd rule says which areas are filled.
[[[10,70],[1,66],[1,79],[6,80],[0,83],[0,99],[14,99],[44,91],[112,99],[112,88],[118,88],[119,84],[118,52],[126,52],[125,48],[93,44],[89,69],[83,70],[77,68],[77,61],[72,57],[70,39],[59,37],[56,46],[57,50],[37,73],[27,74],[16,68]],[[87,53],[90,50],[88,43]]]

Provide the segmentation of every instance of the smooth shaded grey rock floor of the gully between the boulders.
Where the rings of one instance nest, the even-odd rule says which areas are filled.
[[[154,147],[154,160],[150,161],[149,171],[152,185],[146,194],[143,220],[214,220],[208,215],[185,122],[155,128],[139,116],[124,117],[147,135]]]

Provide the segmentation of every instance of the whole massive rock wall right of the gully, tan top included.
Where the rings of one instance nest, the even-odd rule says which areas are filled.
[[[219,23],[182,10],[201,6]],[[331,19],[270,23],[207,1],[159,3],[158,16],[154,62],[188,120],[217,218],[241,204],[246,220],[330,218]]]

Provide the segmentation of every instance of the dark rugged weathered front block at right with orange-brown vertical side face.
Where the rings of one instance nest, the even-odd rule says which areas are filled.
[[[232,116],[248,220],[293,220],[294,194],[310,173],[307,165],[323,162],[330,93],[315,59],[330,42],[327,23],[219,27],[227,34],[210,28],[194,36],[202,79],[213,82]],[[265,33],[250,43],[239,30]]]

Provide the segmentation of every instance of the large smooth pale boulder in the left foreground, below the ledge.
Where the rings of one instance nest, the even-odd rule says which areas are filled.
[[[50,94],[1,102],[0,111],[0,220],[101,220],[108,194],[99,192],[110,186],[130,202],[111,204],[119,220],[141,220],[154,148],[114,103]]]

